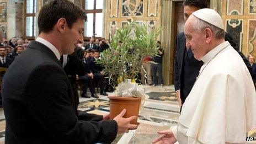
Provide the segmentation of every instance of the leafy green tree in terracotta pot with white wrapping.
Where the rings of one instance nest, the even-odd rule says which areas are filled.
[[[137,84],[130,82],[129,79],[136,79],[140,73],[143,57],[157,55],[157,38],[160,33],[161,27],[148,30],[146,25],[140,25],[131,19],[127,25],[117,29],[115,35],[111,35],[109,49],[103,51],[102,58],[98,60],[98,63],[105,67],[104,71],[108,73],[109,83],[113,86],[118,84],[117,94],[122,96],[109,96],[110,119],[113,119],[124,108],[127,110],[126,118],[138,115],[143,93]],[[117,111],[114,112],[114,109]],[[132,123],[135,124],[136,121]]]

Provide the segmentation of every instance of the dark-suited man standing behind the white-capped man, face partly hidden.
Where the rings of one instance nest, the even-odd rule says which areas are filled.
[[[201,8],[207,8],[207,2],[205,0],[198,0],[198,2],[185,0],[183,6],[184,20],[186,22],[191,13]],[[179,105],[182,106],[194,85],[203,62],[196,60],[191,49],[186,48],[184,32],[176,36],[175,49],[174,87]]]

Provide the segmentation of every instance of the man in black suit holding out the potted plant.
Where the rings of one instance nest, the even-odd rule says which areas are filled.
[[[39,36],[15,58],[3,78],[2,100],[8,143],[111,143],[118,132],[136,129],[130,118],[79,116],[71,84],[59,62],[83,39],[86,13],[67,0],[45,4]]]

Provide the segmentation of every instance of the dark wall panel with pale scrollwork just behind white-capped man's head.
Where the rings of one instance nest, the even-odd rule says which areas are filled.
[[[233,36],[234,41],[242,51],[242,30],[243,20],[241,19],[229,19],[227,20],[227,32]]]

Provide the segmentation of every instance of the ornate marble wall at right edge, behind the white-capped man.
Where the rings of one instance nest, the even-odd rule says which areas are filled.
[[[256,2],[223,0],[222,18],[244,55],[256,56]]]

